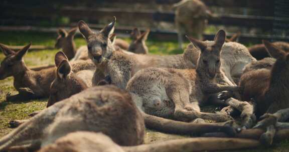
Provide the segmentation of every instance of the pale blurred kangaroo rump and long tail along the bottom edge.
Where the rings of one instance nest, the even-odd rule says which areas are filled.
[[[234,142],[234,144],[232,144]],[[67,134],[56,140],[55,143],[43,147],[39,152],[48,151],[93,151],[101,152],[175,152],[175,151],[207,151],[239,149],[245,147],[256,147],[259,143],[252,139],[237,138],[185,138],[168,141],[159,141],[150,144],[136,146],[119,146],[103,133],[88,131],[77,131]]]

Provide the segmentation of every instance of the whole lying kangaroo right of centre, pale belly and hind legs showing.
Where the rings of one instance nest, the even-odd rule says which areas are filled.
[[[189,39],[201,49],[196,69],[142,69],[131,77],[126,90],[131,92],[137,106],[148,114],[179,120],[231,119],[227,114],[201,112],[199,107],[199,103],[207,100],[209,94],[238,90],[237,86],[215,83],[222,64],[220,59],[226,39],[225,31],[219,30],[214,42],[209,44]]]

